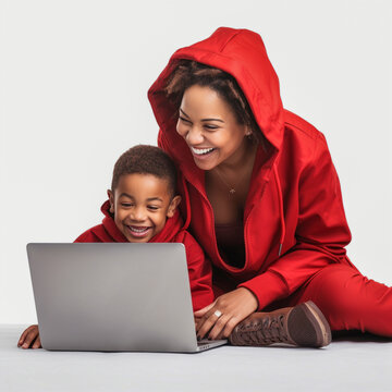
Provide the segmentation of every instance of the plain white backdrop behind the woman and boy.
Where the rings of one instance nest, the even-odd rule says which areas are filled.
[[[147,90],[219,26],[261,35],[283,103],[327,137],[360,271],[392,284],[389,0],[0,0],[0,322],[35,322],[25,245],[101,221],[114,161],[156,144]]]

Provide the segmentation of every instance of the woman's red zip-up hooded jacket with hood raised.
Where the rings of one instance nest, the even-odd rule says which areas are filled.
[[[245,204],[243,268],[225,264],[219,255],[204,171],[176,133],[179,108],[171,106],[163,93],[179,59],[195,60],[234,76],[269,144],[267,152],[258,148]],[[344,249],[351,233],[324,136],[283,109],[279,79],[258,34],[221,27],[209,38],[179,49],[148,97],[160,126],[158,144],[183,174],[183,216],[215,266],[213,282],[220,292],[245,286],[262,309],[292,294],[329,264],[353,266]]]

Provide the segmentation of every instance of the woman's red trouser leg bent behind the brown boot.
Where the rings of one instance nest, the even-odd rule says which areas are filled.
[[[360,330],[392,338],[392,287],[369,280],[345,265],[317,272],[286,301],[286,305],[313,301],[332,331]]]

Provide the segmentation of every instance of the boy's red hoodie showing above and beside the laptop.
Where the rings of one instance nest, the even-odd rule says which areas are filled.
[[[109,200],[105,201],[101,211],[105,215],[101,224],[98,224],[83,234],[75,243],[113,243],[128,242],[115,225],[115,222],[109,212]],[[180,212],[176,211],[173,218],[168,218],[161,232],[155,235],[150,243],[183,243],[185,245],[186,261],[189,274],[189,284],[192,293],[192,303],[194,310],[201,309],[213,301],[211,289],[211,268],[206,261],[205,255],[195,238],[184,229]]]

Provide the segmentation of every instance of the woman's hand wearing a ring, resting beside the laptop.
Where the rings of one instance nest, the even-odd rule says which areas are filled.
[[[245,287],[223,294],[212,304],[195,311],[197,336],[199,339],[206,335],[209,339],[229,338],[234,327],[257,308],[256,296]]]

